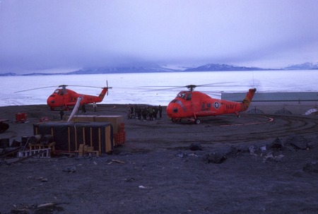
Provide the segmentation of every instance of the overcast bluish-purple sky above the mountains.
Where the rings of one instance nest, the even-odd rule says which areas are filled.
[[[0,73],[318,62],[317,0],[0,0]]]

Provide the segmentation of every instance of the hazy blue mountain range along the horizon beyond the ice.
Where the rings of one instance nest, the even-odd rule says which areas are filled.
[[[97,73],[153,73],[153,72],[187,72],[187,71],[269,71],[269,70],[310,70],[318,69],[318,63],[306,62],[304,64],[295,64],[283,69],[262,69],[257,67],[245,66],[230,66],[228,64],[206,64],[204,66],[189,68],[189,69],[167,69],[162,66],[156,67],[117,67],[117,68],[90,68],[80,69],[67,73],[0,73],[0,76],[49,76],[49,75],[73,75],[73,74],[97,74]]]

